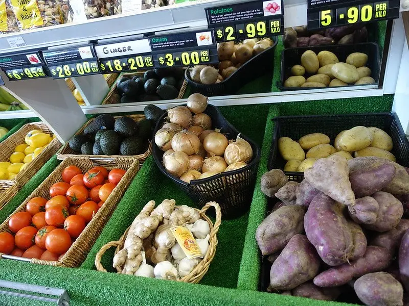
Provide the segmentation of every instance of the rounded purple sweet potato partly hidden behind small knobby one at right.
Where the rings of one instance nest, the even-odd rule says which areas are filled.
[[[372,224],[362,224],[368,230],[376,232],[387,232],[398,225],[403,215],[402,203],[388,192],[378,191],[372,197],[379,204],[376,221]]]

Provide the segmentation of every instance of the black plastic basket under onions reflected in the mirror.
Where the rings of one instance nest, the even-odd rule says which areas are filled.
[[[229,78],[220,83],[204,85],[193,82],[190,79],[189,69],[185,71],[185,79],[194,92],[201,93],[208,97],[234,94],[248,82],[274,69],[274,51],[278,39],[277,37],[272,37],[271,39],[274,41],[271,47],[247,61],[233,72]]]

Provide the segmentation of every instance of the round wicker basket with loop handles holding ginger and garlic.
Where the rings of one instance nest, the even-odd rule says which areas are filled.
[[[177,207],[177,206],[176,206]],[[175,208],[176,208],[175,207]],[[209,219],[208,216],[206,216],[206,211],[214,207],[216,210],[216,221],[213,225],[212,221]],[[206,272],[209,270],[210,263],[212,262],[215,254],[216,254],[216,246],[217,246],[217,232],[219,231],[219,227],[221,224],[221,211],[218,203],[216,202],[209,202],[207,203],[200,211],[198,209],[195,209],[200,213],[201,219],[207,221],[210,225],[210,240],[209,240],[209,248],[208,251],[205,255],[205,257],[201,260],[201,262],[190,272],[188,275],[178,279],[178,282],[184,282],[184,283],[193,283],[197,284],[200,282],[200,279],[205,276]],[[130,227],[130,226],[129,226]],[[124,241],[126,239],[126,236],[128,234],[128,230],[125,231],[125,233],[121,236],[121,238],[118,241],[111,241],[105,244],[101,249],[98,251],[96,257],[95,257],[95,266],[97,267],[98,271],[101,272],[107,272],[106,269],[101,265],[101,258],[105,251],[109,249],[110,247],[114,246],[117,247],[115,250],[115,254],[117,254],[123,247]],[[117,268],[118,273],[122,273],[121,268]]]

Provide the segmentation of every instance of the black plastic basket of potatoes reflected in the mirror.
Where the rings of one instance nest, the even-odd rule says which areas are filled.
[[[321,51],[330,51],[335,54],[340,62],[345,62],[347,57],[354,52],[361,52],[368,55],[367,67],[372,71],[372,78],[375,82],[379,82],[379,69],[380,69],[380,56],[379,46],[375,42],[363,42],[347,45],[330,45],[330,46],[315,46],[315,47],[298,47],[284,49],[281,55],[281,80],[277,81],[277,87],[282,91],[287,90],[308,90],[311,87],[284,87],[284,81],[291,77],[291,67],[294,65],[301,65],[301,56],[307,50],[312,50],[316,54]],[[309,78],[313,74],[306,73],[305,79]],[[339,86],[339,87],[351,87]],[[365,86],[365,85],[353,85],[353,86]],[[316,87],[317,88],[317,87]],[[328,87],[319,87],[328,88]]]

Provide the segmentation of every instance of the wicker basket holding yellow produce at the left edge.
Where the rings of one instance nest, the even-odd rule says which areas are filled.
[[[24,138],[26,137],[27,133],[32,130],[39,130],[41,132],[53,135],[48,126],[42,122],[27,123],[21,126],[20,130],[0,143],[0,162],[9,161],[10,155],[14,152],[15,147],[19,144],[26,143]],[[24,186],[31,179],[31,177],[50,160],[60,146],[61,142],[57,138],[53,139],[26,168],[17,173],[13,181],[17,182],[18,189]],[[9,180],[0,180],[0,186],[10,186],[9,182]]]

